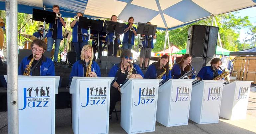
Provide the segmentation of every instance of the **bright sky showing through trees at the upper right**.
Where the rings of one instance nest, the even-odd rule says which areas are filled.
[[[236,14],[236,16],[241,16],[241,17],[245,17],[248,16],[249,17],[249,21],[255,26],[256,25],[256,7],[251,7],[251,8],[246,8],[243,10],[239,10],[239,13]],[[248,29],[242,28],[239,30],[240,32],[240,38],[239,41],[240,42],[244,42],[245,38],[248,36],[246,34],[246,32],[248,31]],[[249,38],[249,36],[248,36]],[[247,39],[248,39],[247,38]]]

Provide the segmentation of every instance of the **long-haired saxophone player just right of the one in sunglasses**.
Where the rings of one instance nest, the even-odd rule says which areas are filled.
[[[156,64],[151,64],[148,67],[147,72],[144,75],[144,78],[146,79],[156,79],[160,74],[165,73],[162,75],[161,79],[170,79],[171,78],[171,71],[169,69],[169,56],[164,54],[161,56],[161,58],[157,61]],[[165,68],[165,69],[164,69]]]

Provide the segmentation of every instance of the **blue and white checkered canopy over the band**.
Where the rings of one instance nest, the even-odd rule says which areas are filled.
[[[33,8],[51,10],[59,5],[63,17],[77,12],[86,16],[127,21],[151,22],[159,29],[175,29],[195,21],[239,9],[256,6],[256,0],[18,0],[18,12],[32,14]],[[5,10],[5,0],[0,0]]]

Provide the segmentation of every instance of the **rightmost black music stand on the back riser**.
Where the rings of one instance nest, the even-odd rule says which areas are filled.
[[[155,36],[156,33],[156,29],[157,29],[157,25],[151,25],[151,24],[146,24],[146,23],[138,23],[138,28],[137,28],[137,34],[143,34],[143,35],[147,35],[149,39],[149,36],[152,35],[152,38]],[[145,38],[146,39],[146,38]],[[145,67],[145,47],[146,47],[146,41],[144,44],[144,54],[143,54],[143,68]],[[148,64],[148,63],[147,63]]]

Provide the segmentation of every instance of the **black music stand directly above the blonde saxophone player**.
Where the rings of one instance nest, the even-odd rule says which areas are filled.
[[[90,41],[90,37],[91,37],[91,30],[94,31],[102,31],[102,27],[103,27],[103,21],[102,20],[92,20],[92,19],[88,19],[87,17],[79,17],[79,21],[78,21],[78,27],[79,28],[84,28],[89,30],[89,40]]]

